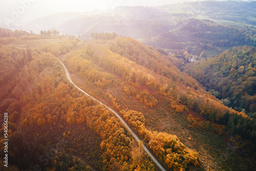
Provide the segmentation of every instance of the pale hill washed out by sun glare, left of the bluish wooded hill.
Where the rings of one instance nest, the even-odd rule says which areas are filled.
[[[166,20],[166,15],[155,8],[117,7],[113,12],[67,20],[58,28],[84,39],[89,39],[92,32],[116,32],[136,39],[150,39],[173,28],[173,22]]]

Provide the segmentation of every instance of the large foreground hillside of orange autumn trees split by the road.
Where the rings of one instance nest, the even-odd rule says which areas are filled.
[[[166,170],[253,169],[255,120],[223,105],[154,47],[93,35],[85,42],[31,34],[0,45],[0,111],[1,119],[9,116],[12,169],[159,170],[113,113],[68,81],[57,57]]]

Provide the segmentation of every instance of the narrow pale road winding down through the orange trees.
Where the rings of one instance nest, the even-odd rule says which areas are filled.
[[[57,58],[58,59],[58,58]],[[58,59],[59,60],[59,59]],[[99,102],[101,105],[105,106],[106,108],[108,108],[111,112],[113,112],[113,114],[115,114],[120,121],[124,124],[124,126],[127,128],[127,130],[129,130],[129,132],[134,136],[134,138],[140,142],[140,139],[136,136],[136,134],[134,134],[134,132],[130,129],[130,127],[125,123],[125,121],[113,110],[111,109],[109,106],[103,104],[102,102],[100,102],[99,100],[95,99],[93,96],[91,96],[90,94],[84,92],[82,89],[80,89],[78,86],[76,86],[76,84],[71,80],[70,76],[69,76],[69,72],[66,68],[66,66],[61,62],[61,60],[59,60],[59,62],[61,63],[61,65],[63,66],[63,68],[65,69],[66,72],[66,76],[68,78],[68,80],[75,86],[75,88],[77,88],[78,90],[80,90],[82,93],[86,94],[87,96],[93,98],[95,101]],[[150,153],[150,151],[148,151],[148,149],[145,147],[144,144],[143,145],[143,149],[145,150],[145,152],[151,157],[151,159],[158,165],[158,167],[163,170],[166,171],[163,166],[157,161],[157,159]]]

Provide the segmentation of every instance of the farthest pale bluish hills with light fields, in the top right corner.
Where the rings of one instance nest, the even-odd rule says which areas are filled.
[[[255,17],[255,1],[200,1],[165,5],[159,9],[182,18],[201,17],[241,22],[255,26],[249,17]],[[225,9],[225,10],[223,10]],[[219,21],[220,22],[220,21]]]

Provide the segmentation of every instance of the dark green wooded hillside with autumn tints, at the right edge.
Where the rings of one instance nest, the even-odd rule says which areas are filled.
[[[198,80],[223,104],[256,117],[256,48],[234,47],[215,57],[187,65]]]

